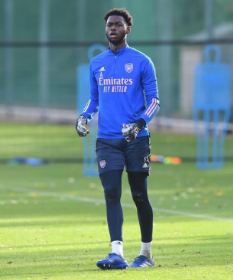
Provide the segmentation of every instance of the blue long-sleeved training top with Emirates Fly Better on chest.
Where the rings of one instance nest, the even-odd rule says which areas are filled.
[[[148,124],[159,111],[155,68],[151,59],[128,45],[108,49],[90,63],[90,100],[81,115],[99,111],[97,138],[123,138],[122,125],[143,118]],[[149,135],[146,125],[137,137]]]

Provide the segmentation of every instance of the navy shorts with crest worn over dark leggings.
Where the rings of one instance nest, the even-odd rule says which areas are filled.
[[[138,137],[128,143],[125,139],[97,139],[96,154],[99,174],[110,170],[150,172],[150,137]]]

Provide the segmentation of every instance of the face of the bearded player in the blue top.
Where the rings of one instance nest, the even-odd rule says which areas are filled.
[[[110,16],[106,22],[105,32],[110,43],[119,45],[130,32],[130,26],[127,26],[122,16]]]

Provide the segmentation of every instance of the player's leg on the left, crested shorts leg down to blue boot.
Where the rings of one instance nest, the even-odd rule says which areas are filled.
[[[126,268],[123,257],[121,208],[121,179],[125,165],[123,149],[127,142],[124,139],[97,139],[96,155],[98,171],[104,188],[107,221],[112,244],[112,252],[106,259],[96,264],[101,269]]]

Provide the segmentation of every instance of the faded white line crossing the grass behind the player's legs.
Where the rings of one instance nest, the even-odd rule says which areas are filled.
[[[14,192],[26,192],[26,193],[37,193],[39,195],[43,196],[51,196],[51,197],[58,197],[60,199],[67,199],[67,200],[73,200],[73,201],[79,201],[79,202],[89,202],[89,203],[95,203],[95,204],[105,204],[105,201],[103,199],[97,199],[97,198],[91,198],[91,197],[81,197],[81,196],[74,196],[69,194],[63,194],[63,193],[56,193],[56,192],[47,192],[47,191],[39,191],[39,190],[32,190],[27,188],[17,188],[17,187],[7,187],[0,185],[0,189],[2,190],[9,190]],[[123,207],[127,208],[135,208],[135,205],[130,203],[122,203]],[[202,214],[195,214],[185,211],[178,211],[178,210],[171,210],[171,209],[163,209],[163,208],[157,208],[153,207],[154,212],[160,212],[160,213],[167,213],[172,215],[179,215],[179,216],[187,216],[192,218],[198,218],[198,219],[205,219],[205,220],[214,220],[214,221],[222,221],[222,222],[233,222],[233,219],[229,218],[222,218],[222,217],[216,217],[216,216],[207,216]]]

